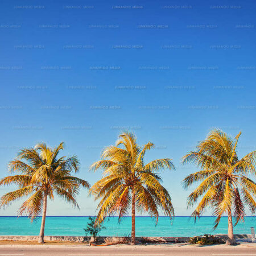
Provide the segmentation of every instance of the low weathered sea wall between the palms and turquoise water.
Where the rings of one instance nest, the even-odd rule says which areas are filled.
[[[218,237],[225,238],[226,234],[218,234]],[[235,234],[236,239],[251,239],[251,234]],[[98,241],[104,241],[106,237],[97,237]],[[91,237],[84,236],[44,236],[46,241],[71,241],[89,242]],[[0,240],[12,241],[36,241],[38,236],[0,236]],[[136,237],[138,242],[188,242],[189,237]]]

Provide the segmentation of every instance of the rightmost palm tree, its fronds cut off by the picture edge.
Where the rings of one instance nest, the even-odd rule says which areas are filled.
[[[200,217],[205,208],[211,206],[213,215],[217,216],[214,229],[217,228],[222,214],[228,214],[228,241],[233,245],[236,241],[233,235],[233,220],[235,224],[243,221],[245,217],[245,205],[252,214],[255,213],[256,183],[249,179],[249,175],[255,175],[256,151],[250,152],[242,159],[237,156],[237,142],[241,132],[230,138],[223,131],[214,129],[205,141],[197,145],[196,151],[191,151],[183,158],[183,163],[195,163],[201,170],[190,174],[183,180],[185,188],[190,187],[196,181],[201,184],[188,196],[188,207],[196,204],[201,198],[196,209],[192,213],[195,218]],[[233,213],[232,213],[233,212]]]

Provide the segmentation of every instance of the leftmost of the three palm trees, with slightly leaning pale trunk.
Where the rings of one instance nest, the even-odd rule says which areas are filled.
[[[19,209],[18,216],[23,213],[33,221],[42,213],[42,224],[39,243],[44,243],[44,224],[46,222],[47,198],[54,199],[56,193],[61,199],[79,208],[76,195],[80,185],[89,188],[87,181],[71,176],[71,172],[79,171],[79,160],[76,156],[57,158],[63,150],[63,142],[55,148],[40,143],[35,148],[24,148],[18,157],[9,163],[9,171],[17,175],[4,177],[0,185],[18,184],[19,189],[6,193],[0,199],[0,207],[7,207],[12,201],[28,196]],[[23,162],[22,160],[26,160]]]

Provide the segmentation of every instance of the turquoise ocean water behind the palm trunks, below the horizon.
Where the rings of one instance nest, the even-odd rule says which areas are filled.
[[[158,225],[150,217],[136,217],[136,236],[199,236],[201,234],[226,234],[228,217],[222,217],[218,228],[213,231],[215,217],[201,217],[196,223],[190,217],[175,217],[172,225],[167,217],[159,217]],[[0,217],[0,235],[37,236],[41,219],[30,222],[27,217]],[[85,236],[88,217],[46,217],[45,235],[48,236]],[[124,217],[118,224],[117,217],[104,222],[100,236],[126,236],[131,234],[131,217]],[[234,227],[235,234],[250,234],[250,228],[256,229],[256,217],[246,217]]]

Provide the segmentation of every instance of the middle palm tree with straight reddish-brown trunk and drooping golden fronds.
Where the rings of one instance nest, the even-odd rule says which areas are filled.
[[[123,147],[119,147],[122,145]],[[129,131],[119,136],[115,146],[106,147],[102,160],[92,164],[91,169],[103,169],[103,177],[90,189],[95,200],[100,199],[96,225],[106,216],[119,213],[118,220],[129,213],[131,204],[131,244],[135,245],[135,207],[147,211],[158,222],[158,208],[172,220],[174,208],[168,191],[161,185],[157,172],[163,168],[174,169],[171,159],[164,158],[144,164],[144,154],[154,147],[148,142],[143,148]]]

